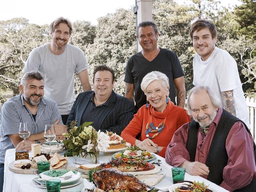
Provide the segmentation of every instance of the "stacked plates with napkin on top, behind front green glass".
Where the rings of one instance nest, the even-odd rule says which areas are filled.
[[[61,188],[69,188],[72,186],[76,186],[78,184],[80,184],[83,179],[81,178],[81,174],[77,171],[74,170],[49,170],[46,172],[43,172],[41,174],[47,175],[49,177],[53,177],[52,179],[54,179],[54,177],[60,177],[64,174],[67,174],[68,172],[72,171],[74,173],[74,176],[72,176],[71,178],[67,179],[67,180],[63,180],[61,179]],[[39,178],[41,178],[41,174],[39,174]],[[41,188],[46,188],[45,182],[44,181],[38,181],[38,178],[34,178],[33,179],[33,184],[41,187]],[[58,179],[58,178],[56,178]]]

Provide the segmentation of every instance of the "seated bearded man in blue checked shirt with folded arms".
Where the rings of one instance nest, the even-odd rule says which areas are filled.
[[[24,140],[19,137],[19,124],[24,122],[30,130],[26,149],[31,144],[44,141],[46,124],[54,124],[56,138],[63,139],[67,132],[56,103],[44,96],[44,77],[39,72],[27,72],[20,80],[19,95],[4,103],[0,118],[0,192],[4,183],[4,157],[6,150],[24,150]],[[54,90],[53,90],[54,91]]]

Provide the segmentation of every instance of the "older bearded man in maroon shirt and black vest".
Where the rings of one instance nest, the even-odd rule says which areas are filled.
[[[256,191],[256,146],[247,126],[205,86],[190,90],[187,109],[194,120],[174,133],[166,162],[229,191]]]

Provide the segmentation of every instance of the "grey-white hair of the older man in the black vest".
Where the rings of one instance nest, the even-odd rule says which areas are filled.
[[[199,93],[201,90],[205,91],[209,95],[210,100],[211,100],[211,104],[215,108],[218,109],[219,107],[222,107],[221,100],[216,96],[216,94],[208,86],[196,86],[196,87],[193,87],[189,91],[188,98],[187,98],[187,112],[188,112],[189,115],[192,115],[192,110],[191,110],[191,107],[189,105],[189,100],[190,100],[191,96],[194,93]]]

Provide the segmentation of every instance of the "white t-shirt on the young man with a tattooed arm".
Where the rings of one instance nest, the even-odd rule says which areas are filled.
[[[236,116],[250,129],[249,114],[235,59],[225,50],[215,47],[206,61],[195,54],[193,59],[193,85],[210,87],[222,101],[221,92],[233,90]]]

